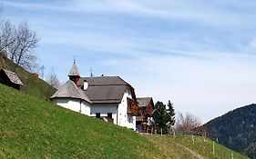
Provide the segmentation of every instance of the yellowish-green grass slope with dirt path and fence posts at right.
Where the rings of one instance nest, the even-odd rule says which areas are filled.
[[[149,141],[157,144],[162,153],[168,158],[212,158],[212,159],[229,159],[231,155],[235,159],[246,159],[248,157],[233,152],[221,144],[214,144],[215,153],[212,152],[212,141],[203,140],[200,136],[194,136],[194,144],[191,135],[147,135]]]

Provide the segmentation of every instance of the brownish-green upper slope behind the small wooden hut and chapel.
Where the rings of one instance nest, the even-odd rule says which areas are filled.
[[[22,87],[22,91],[26,94],[48,100],[50,95],[56,92],[56,89],[47,84],[44,80],[37,78],[35,75],[31,75],[24,68],[15,65],[4,55],[0,55],[0,68],[5,68],[9,71],[15,72],[23,82],[24,85]]]

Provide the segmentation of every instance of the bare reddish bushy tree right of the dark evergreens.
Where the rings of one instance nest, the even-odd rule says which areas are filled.
[[[176,130],[180,132],[194,131],[200,126],[200,120],[193,114],[186,115],[178,113],[178,120],[176,122]]]

